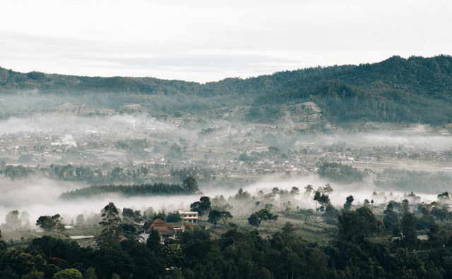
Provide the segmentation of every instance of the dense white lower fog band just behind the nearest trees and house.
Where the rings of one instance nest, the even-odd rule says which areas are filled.
[[[280,178],[269,177],[266,180],[261,180],[252,183],[244,188],[245,191],[252,195],[256,195],[258,191],[263,190],[266,194],[270,193],[273,187],[290,191],[292,187],[298,187],[300,194],[292,199],[292,208],[300,206],[300,208],[314,209],[315,202],[311,196],[304,194],[304,187],[313,185],[314,190],[318,187],[323,187],[328,181],[316,178],[311,175],[304,178],[290,178],[281,180]],[[118,209],[124,207],[145,211],[149,206],[152,206],[155,211],[165,210],[165,212],[172,212],[177,209],[189,209],[190,204],[198,201],[202,195],[206,195],[213,199],[217,195],[223,195],[226,199],[233,197],[237,190],[230,190],[225,188],[206,189],[203,194],[183,195],[183,196],[153,196],[153,197],[121,197],[118,194],[105,194],[101,197],[92,197],[90,199],[59,199],[59,194],[66,190],[83,187],[79,183],[71,182],[57,182],[47,178],[30,178],[29,180],[11,181],[6,178],[0,179],[2,194],[0,196],[0,222],[4,222],[6,213],[13,210],[28,211],[30,214],[30,223],[34,227],[35,221],[39,216],[49,215],[53,216],[59,213],[64,218],[64,223],[71,223],[71,219],[76,221],[78,214],[83,214],[85,218],[89,218],[93,213],[100,213],[100,210],[109,202],[114,202]],[[364,199],[374,199],[375,204],[389,202],[396,200],[400,202],[403,197],[403,192],[393,192],[390,196],[386,192],[386,199],[383,196],[372,196],[374,190],[379,192],[379,189],[371,184],[359,185],[338,185],[331,183],[333,192],[330,194],[331,203],[336,208],[341,209],[345,203],[345,199],[350,194],[355,198],[353,204],[362,204]],[[435,194],[417,194],[422,197],[420,202],[432,202],[436,199]],[[278,197],[277,197],[278,199]],[[245,202],[237,202],[233,199],[228,201],[234,208],[231,210],[232,214],[249,215],[252,213],[250,200]],[[277,202],[278,203],[278,202]]]

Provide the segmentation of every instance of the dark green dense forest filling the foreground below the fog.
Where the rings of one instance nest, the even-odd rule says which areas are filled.
[[[370,205],[345,209],[351,203],[350,196],[343,210],[335,210],[338,233],[325,243],[302,239],[289,222],[270,237],[256,229],[230,228],[213,238],[209,230],[187,225],[176,240],[161,242],[157,230],[150,230],[141,243],[133,240],[133,225],[124,223],[126,218],[121,221],[109,203],[102,209],[96,248],[49,236],[14,249],[0,241],[0,278],[451,278],[451,237],[436,223],[450,220],[450,214],[443,218],[429,205],[412,212],[404,200],[389,202],[381,219]],[[123,216],[126,211],[134,214],[124,209]],[[47,217],[60,222],[59,214],[41,216],[37,222]],[[428,229],[429,240],[417,239],[420,225]],[[402,233],[403,238],[393,242],[379,240]],[[422,251],[413,252],[420,247]]]

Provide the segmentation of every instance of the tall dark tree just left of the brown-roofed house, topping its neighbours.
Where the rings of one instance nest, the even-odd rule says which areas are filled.
[[[104,213],[102,213],[102,221],[99,222],[99,225],[102,225],[102,233],[100,235],[100,242],[102,244],[114,244],[114,236],[117,234],[119,229],[121,228],[121,218],[119,218],[119,211],[117,207],[109,202],[104,209]]]

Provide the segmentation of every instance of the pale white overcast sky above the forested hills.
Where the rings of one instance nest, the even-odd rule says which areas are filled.
[[[452,1],[3,0],[0,66],[208,82],[452,54]]]

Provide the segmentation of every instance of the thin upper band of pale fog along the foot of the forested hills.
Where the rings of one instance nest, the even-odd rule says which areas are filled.
[[[174,121],[172,123],[164,122],[144,114],[133,116],[115,114],[85,117],[48,113],[42,116],[36,115],[29,118],[11,117],[6,120],[0,120],[0,135],[17,132],[49,133],[52,128],[52,132],[68,136],[81,133],[99,133],[103,135],[118,136],[130,135],[131,132],[162,132],[165,136],[174,137],[174,139],[178,139],[182,136],[186,140],[197,141],[198,134],[201,132],[202,128],[216,127],[222,128],[220,132],[221,135],[217,137],[217,144],[222,144],[222,140],[225,140],[228,136],[244,135],[246,132],[252,130],[250,129],[252,124],[231,124],[223,120],[215,120],[215,122],[203,124],[196,123],[195,120],[192,120],[191,125],[188,125],[191,129],[180,129],[179,125],[182,125],[182,123]],[[276,131],[268,127],[267,130],[263,129],[263,131],[256,131],[255,136],[262,137],[268,133],[278,135],[276,142],[269,142],[269,144],[279,144],[280,147],[287,149],[297,149],[306,146],[324,147],[338,142],[346,142],[347,147],[394,147],[405,145],[413,148],[435,150],[452,148],[450,137],[439,135],[439,133],[436,130],[432,130],[429,125],[420,124],[415,124],[410,128],[404,129],[376,130],[373,132],[354,133],[352,135],[297,135],[294,133],[286,135],[284,131]]]

